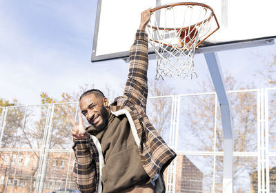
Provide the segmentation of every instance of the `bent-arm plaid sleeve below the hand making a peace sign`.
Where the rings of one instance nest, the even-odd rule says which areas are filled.
[[[75,153],[74,176],[77,187],[82,193],[97,191],[96,159],[97,151],[92,139],[74,140],[73,150]]]

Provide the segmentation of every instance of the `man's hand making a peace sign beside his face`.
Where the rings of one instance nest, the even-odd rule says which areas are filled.
[[[83,127],[83,122],[81,118],[81,112],[79,112],[79,125],[76,124],[71,114],[68,114],[68,118],[72,123],[72,136],[73,139],[89,139],[90,135],[86,132],[86,129]]]

